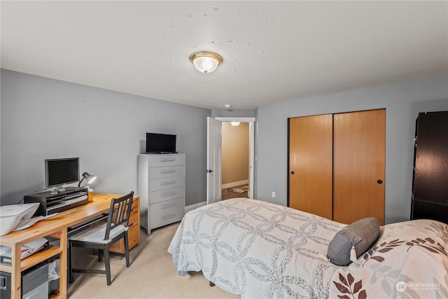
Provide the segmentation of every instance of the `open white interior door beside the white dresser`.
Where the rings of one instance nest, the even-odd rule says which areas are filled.
[[[221,121],[207,117],[207,204],[221,201]]]

